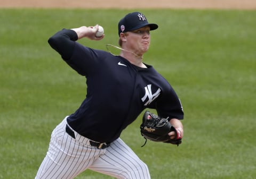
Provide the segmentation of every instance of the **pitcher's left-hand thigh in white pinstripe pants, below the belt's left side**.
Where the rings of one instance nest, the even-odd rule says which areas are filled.
[[[63,120],[52,132],[47,154],[38,169],[36,179],[74,178],[85,171],[100,151],[86,146],[65,131],[66,120]]]

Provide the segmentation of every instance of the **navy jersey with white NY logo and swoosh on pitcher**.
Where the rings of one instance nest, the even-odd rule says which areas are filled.
[[[62,58],[86,77],[86,98],[67,118],[68,124],[84,137],[114,141],[145,108],[156,109],[161,117],[183,119],[178,96],[153,66],[140,68],[121,56],[78,42],[74,42],[71,57]]]

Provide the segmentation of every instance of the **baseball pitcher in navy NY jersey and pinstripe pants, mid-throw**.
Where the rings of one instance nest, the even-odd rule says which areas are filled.
[[[85,76],[87,95],[76,112],[53,130],[36,179],[75,178],[86,169],[115,178],[149,179],[147,165],[119,138],[146,108],[169,117],[183,137],[183,110],[177,94],[153,66],[142,62],[150,31],[158,25],[148,23],[140,12],[125,15],[118,23],[122,48],[118,56],[77,42],[101,40],[105,35],[96,37],[98,28],[62,29],[49,39],[62,59]],[[176,134],[168,135],[172,139]]]

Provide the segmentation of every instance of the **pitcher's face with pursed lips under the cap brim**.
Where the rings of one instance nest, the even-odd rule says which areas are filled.
[[[142,27],[137,30],[127,32],[127,42],[132,52],[143,55],[150,45],[150,27]]]

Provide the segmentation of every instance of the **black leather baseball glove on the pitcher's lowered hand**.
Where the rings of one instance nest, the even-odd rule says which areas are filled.
[[[149,111],[145,112],[142,118],[142,124],[140,125],[141,135],[146,139],[145,144],[147,139],[155,142],[176,144],[177,146],[181,144],[181,132],[169,123],[168,118],[161,118]],[[175,139],[171,139],[168,135],[171,131],[176,133]]]

